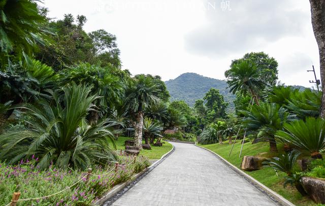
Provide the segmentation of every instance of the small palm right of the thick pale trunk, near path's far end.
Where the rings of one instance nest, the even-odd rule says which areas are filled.
[[[160,122],[154,121],[149,117],[145,117],[143,121],[143,132],[144,132],[144,140],[145,144],[153,144],[154,136],[161,136],[160,132],[163,130],[163,125]]]

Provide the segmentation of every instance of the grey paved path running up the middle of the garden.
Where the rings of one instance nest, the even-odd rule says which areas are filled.
[[[175,151],[112,205],[277,205],[212,153],[172,144]]]

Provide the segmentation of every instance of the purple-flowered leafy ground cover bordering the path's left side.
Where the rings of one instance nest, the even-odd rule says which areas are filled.
[[[119,163],[125,167],[118,167],[115,172],[115,164],[112,162],[105,168],[93,168],[93,175],[87,182],[87,173],[84,171],[58,170],[53,166],[41,171],[35,167],[36,161],[37,159],[21,161],[16,166],[0,162],[0,205],[7,205],[15,190],[21,192],[20,200],[44,197],[64,190],[79,180],[81,181],[76,185],[59,194],[18,201],[17,205],[93,205],[114,185],[129,180],[133,174],[150,165],[148,158],[143,156],[138,157],[136,162],[132,156],[118,156]]]

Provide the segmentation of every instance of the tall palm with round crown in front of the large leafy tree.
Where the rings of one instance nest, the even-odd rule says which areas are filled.
[[[235,94],[237,91],[246,96],[249,92],[258,105],[258,92],[265,87],[265,82],[261,79],[261,72],[254,63],[245,60],[234,64],[226,76],[230,92]]]

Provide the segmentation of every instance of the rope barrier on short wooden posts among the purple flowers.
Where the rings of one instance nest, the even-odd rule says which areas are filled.
[[[88,180],[88,179],[89,179],[89,176],[96,176],[96,177],[98,177],[99,175],[100,175],[100,176],[105,176],[105,175],[108,175],[109,173],[111,173],[114,169],[115,169],[116,172],[117,172],[117,168],[118,168],[118,167],[125,168],[125,167],[129,166],[129,165],[132,164],[132,163],[135,163],[135,159],[134,159],[133,161],[129,162],[128,164],[124,164],[124,165],[120,165],[120,164],[118,164],[118,162],[117,162],[117,163],[115,164],[115,167],[112,168],[112,170],[108,171],[107,173],[104,173],[104,174],[98,174],[98,175],[91,174],[91,169],[89,169],[89,170],[88,170],[88,173],[87,173],[84,177],[82,177],[80,180],[78,180],[77,182],[75,182],[73,185],[71,185],[71,186],[69,186],[69,187],[66,187],[65,189],[63,189],[63,190],[61,190],[61,191],[58,191],[58,192],[56,192],[56,193],[54,193],[54,194],[50,194],[50,195],[43,196],[43,197],[34,197],[34,198],[18,199],[18,200],[14,200],[14,199],[12,199],[11,202],[8,203],[8,204],[6,204],[5,206],[9,206],[9,205],[11,205],[12,203],[17,203],[18,201],[38,200],[38,199],[44,199],[44,198],[48,198],[48,197],[51,197],[51,196],[57,195],[57,194],[59,194],[59,193],[61,193],[61,192],[66,191],[67,189],[72,188],[73,186],[75,186],[75,185],[78,184],[81,180],[83,180],[83,179],[85,179],[85,178],[87,178],[87,180]],[[20,194],[20,193],[19,193],[19,194]]]

